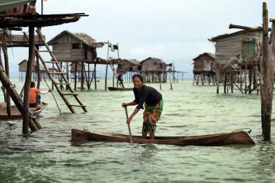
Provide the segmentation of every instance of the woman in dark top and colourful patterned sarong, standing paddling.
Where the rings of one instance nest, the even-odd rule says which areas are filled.
[[[130,124],[135,114],[137,114],[141,108],[144,109],[145,107],[143,112],[142,137],[146,138],[149,133],[150,138],[154,139],[157,121],[159,121],[163,110],[164,102],[162,100],[162,94],[151,86],[145,86],[143,77],[140,74],[133,75],[132,80],[135,99],[129,103],[122,103],[122,107],[126,108],[126,106],[135,105],[137,105],[137,107],[133,110],[133,113],[127,119],[126,123]]]

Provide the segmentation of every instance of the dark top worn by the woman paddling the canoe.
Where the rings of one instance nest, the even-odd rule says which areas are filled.
[[[139,93],[137,88],[133,88],[133,93],[135,94],[134,101],[137,103],[137,109],[143,109],[144,102],[148,104],[148,106],[153,106],[162,99],[162,94],[150,86],[143,85],[141,93]]]

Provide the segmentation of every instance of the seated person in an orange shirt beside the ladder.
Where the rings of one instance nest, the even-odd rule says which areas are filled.
[[[30,82],[29,107],[36,108],[39,104],[41,96],[39,94],[46,94],[52,90],[41,91],[35,88],[35,82]]]

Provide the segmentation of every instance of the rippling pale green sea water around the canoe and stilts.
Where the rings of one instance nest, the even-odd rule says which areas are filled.
[[[20,92],[23,82],[14,79],[14,83]],[[111,80],[108,83],[112,85]],[[0,122],[0,182],[275,182],[274,121],[272,142],[262,141],[261,101],[256,93],[234,90],[217,95],[216,86],[192,86],[192,80],[173,84],[173,90],[170,83],[162,84],[162,90],[159,84],[147,84],[164,97],[156,135],[201,135],[249,127],[256,145],[72,143],[72,128],[129,133],[121,103],[132,101],[133,92],[104,91],[104,80],[97,84],[98,90],[78,92],[86,113],[76,109],[77,114],[71,114],[55,91],[60,114],[52,95],[43,95],[49,103],[39,119],[43,129],[30,136],[22,135],[21,120]],[[41,89],[47,89],[45,83]],[[133,109],[129,106],[129,114]],[[141,134],[141,127],[140,111],[131,122],[132,134]]]

